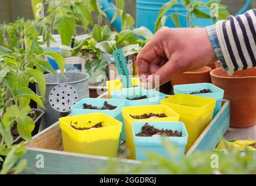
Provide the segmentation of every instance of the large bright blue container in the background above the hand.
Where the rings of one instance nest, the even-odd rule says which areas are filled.
[[[209,2],[209,0],[201,0],[202,2]],[[155,22],[158,17],[159,10],[162,5],[169,0],[137,0],[136,1],[136,27],[145,26],[149,28],[154,33]],[[179,9],[179,13],[187,14],[187,10],[182,5],[175,5],[168,10],[166,15],[175,13],[175,9]],[[207,8],[201,8],[202,11],[209,13]],[[186,17],[179,16],[181,27],[187,27]],[[195,26],[205,27],[209,26],[212,23],[211,19],[193,19]],[[166,20],[166,26],[176,27],[170,18]]]

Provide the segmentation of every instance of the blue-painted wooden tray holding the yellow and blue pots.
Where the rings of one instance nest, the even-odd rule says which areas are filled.
[[[107,93],[106,93],[107,94]],[[99,98],[106,97],[106,94]],[[230,101],[223,100],[222,108],[205,128],[200,137],[191,146],[187,155],[195,151],[208,151],[216,147],[219,140],[226,133],[230,124]],[[46,128],[33,137],[33,142],[27,142],[27,153],[22,159],[27,159],[27,167],[23,174],[93,174],[99,173],[109,158],[103,156],[83,155],[79,153],[63,152],[62,134],[59,122]],[[126,144],[122,143],[118,156],[119,166],[140,163],[137,160],[124,159]],[[41,159],[43,157],[43,159]],[[44,161],[44,168],[37,167],[38,159]]]

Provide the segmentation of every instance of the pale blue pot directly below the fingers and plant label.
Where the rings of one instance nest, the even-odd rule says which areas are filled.
[[[128,98],[136,98],[138,96],[146,95],[148,98],[139,100],[129,100]],[[145,106],[145,105],[159,105],[166,95],[162,92],[147,90],[141,87],[125,88],[120,91],[112,91],[112,98],[125,100],[125,106]]]

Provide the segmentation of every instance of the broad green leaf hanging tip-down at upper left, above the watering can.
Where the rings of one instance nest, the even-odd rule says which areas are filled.
[[[75,26],[76,23],[73,16],[58,15],[56,17],[55,27],[57,28],[58,33],[61,35],[62,45],[70,45]]]

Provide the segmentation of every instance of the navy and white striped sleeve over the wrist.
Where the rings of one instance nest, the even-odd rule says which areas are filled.
[[[256,9],[216,23],[216,34],[229,75],[256,67]]]

